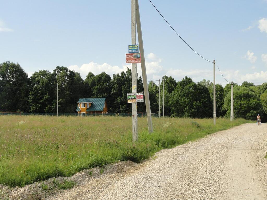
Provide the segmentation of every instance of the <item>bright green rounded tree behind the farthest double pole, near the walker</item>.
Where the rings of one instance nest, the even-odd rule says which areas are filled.
[[[261,111],[260,98],[248,87],[235,86],[233,88],[234,117],[254,120]],[[230,117],[231,93],[228,92],[224,99],[226,116]]]

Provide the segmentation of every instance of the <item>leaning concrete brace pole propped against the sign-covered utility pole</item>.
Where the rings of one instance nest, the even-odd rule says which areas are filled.
[[[147,111],[148,132],[153,133],[150,101],[149,101],[148,86],[147,86],[147,72],[146,72],[145,54],[144,54],[144,46],[143,46],[143,38],[142,38],[142,29],[141,29],[138,0],[135,0],[135,16],[136,16],[136,27],[137,27],[137,34],[138,34],[138,41],[139,41],[139,49],[140,49],[140,54],[141,54],[141,68],[142,68],[144,95],[145,95],[145,100],[146,100],[145,104],[146,104],[146,111]]]

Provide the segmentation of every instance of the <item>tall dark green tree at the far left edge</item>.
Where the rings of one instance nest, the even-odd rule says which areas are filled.
[[[17,63],[0,64],[0,110],[7,112],[29,111],[28,74]]]

